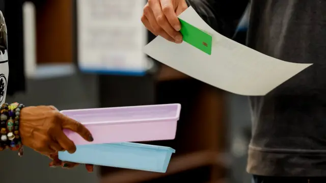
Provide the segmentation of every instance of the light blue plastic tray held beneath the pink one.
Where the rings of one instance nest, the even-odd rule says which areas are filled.
[[[59,152],[59,159],[80,164],[127,168],[165,173],[171,155],[171,147],[131,142],[114,144],[77,145],[73,154]]]

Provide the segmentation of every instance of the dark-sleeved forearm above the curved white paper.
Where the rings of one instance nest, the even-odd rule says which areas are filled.
[[[232,37],[249,0],[186,0],[220,34]]]

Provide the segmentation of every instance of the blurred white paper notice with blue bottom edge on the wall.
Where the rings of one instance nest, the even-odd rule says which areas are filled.
[[[77,0],[77,52],[85,72],[144,74],[144,0]]]

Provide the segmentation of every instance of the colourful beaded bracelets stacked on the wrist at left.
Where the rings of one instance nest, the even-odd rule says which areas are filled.
[[[0,110],[0,150],[18,150],[18,155],[22,156],[23,149],[19,134],[20,111],[23,104],[17,102],[4,103]]]

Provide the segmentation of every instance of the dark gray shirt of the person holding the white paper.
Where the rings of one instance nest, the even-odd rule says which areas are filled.
[[[232,10],[246,8],[239,2],[188,0],[228,37],[240,18]],[[313,65],[266,96],[250,97],[247,170],[266,176],[326,176],[326,0],[252,0],[251,6],[249,47]]]

